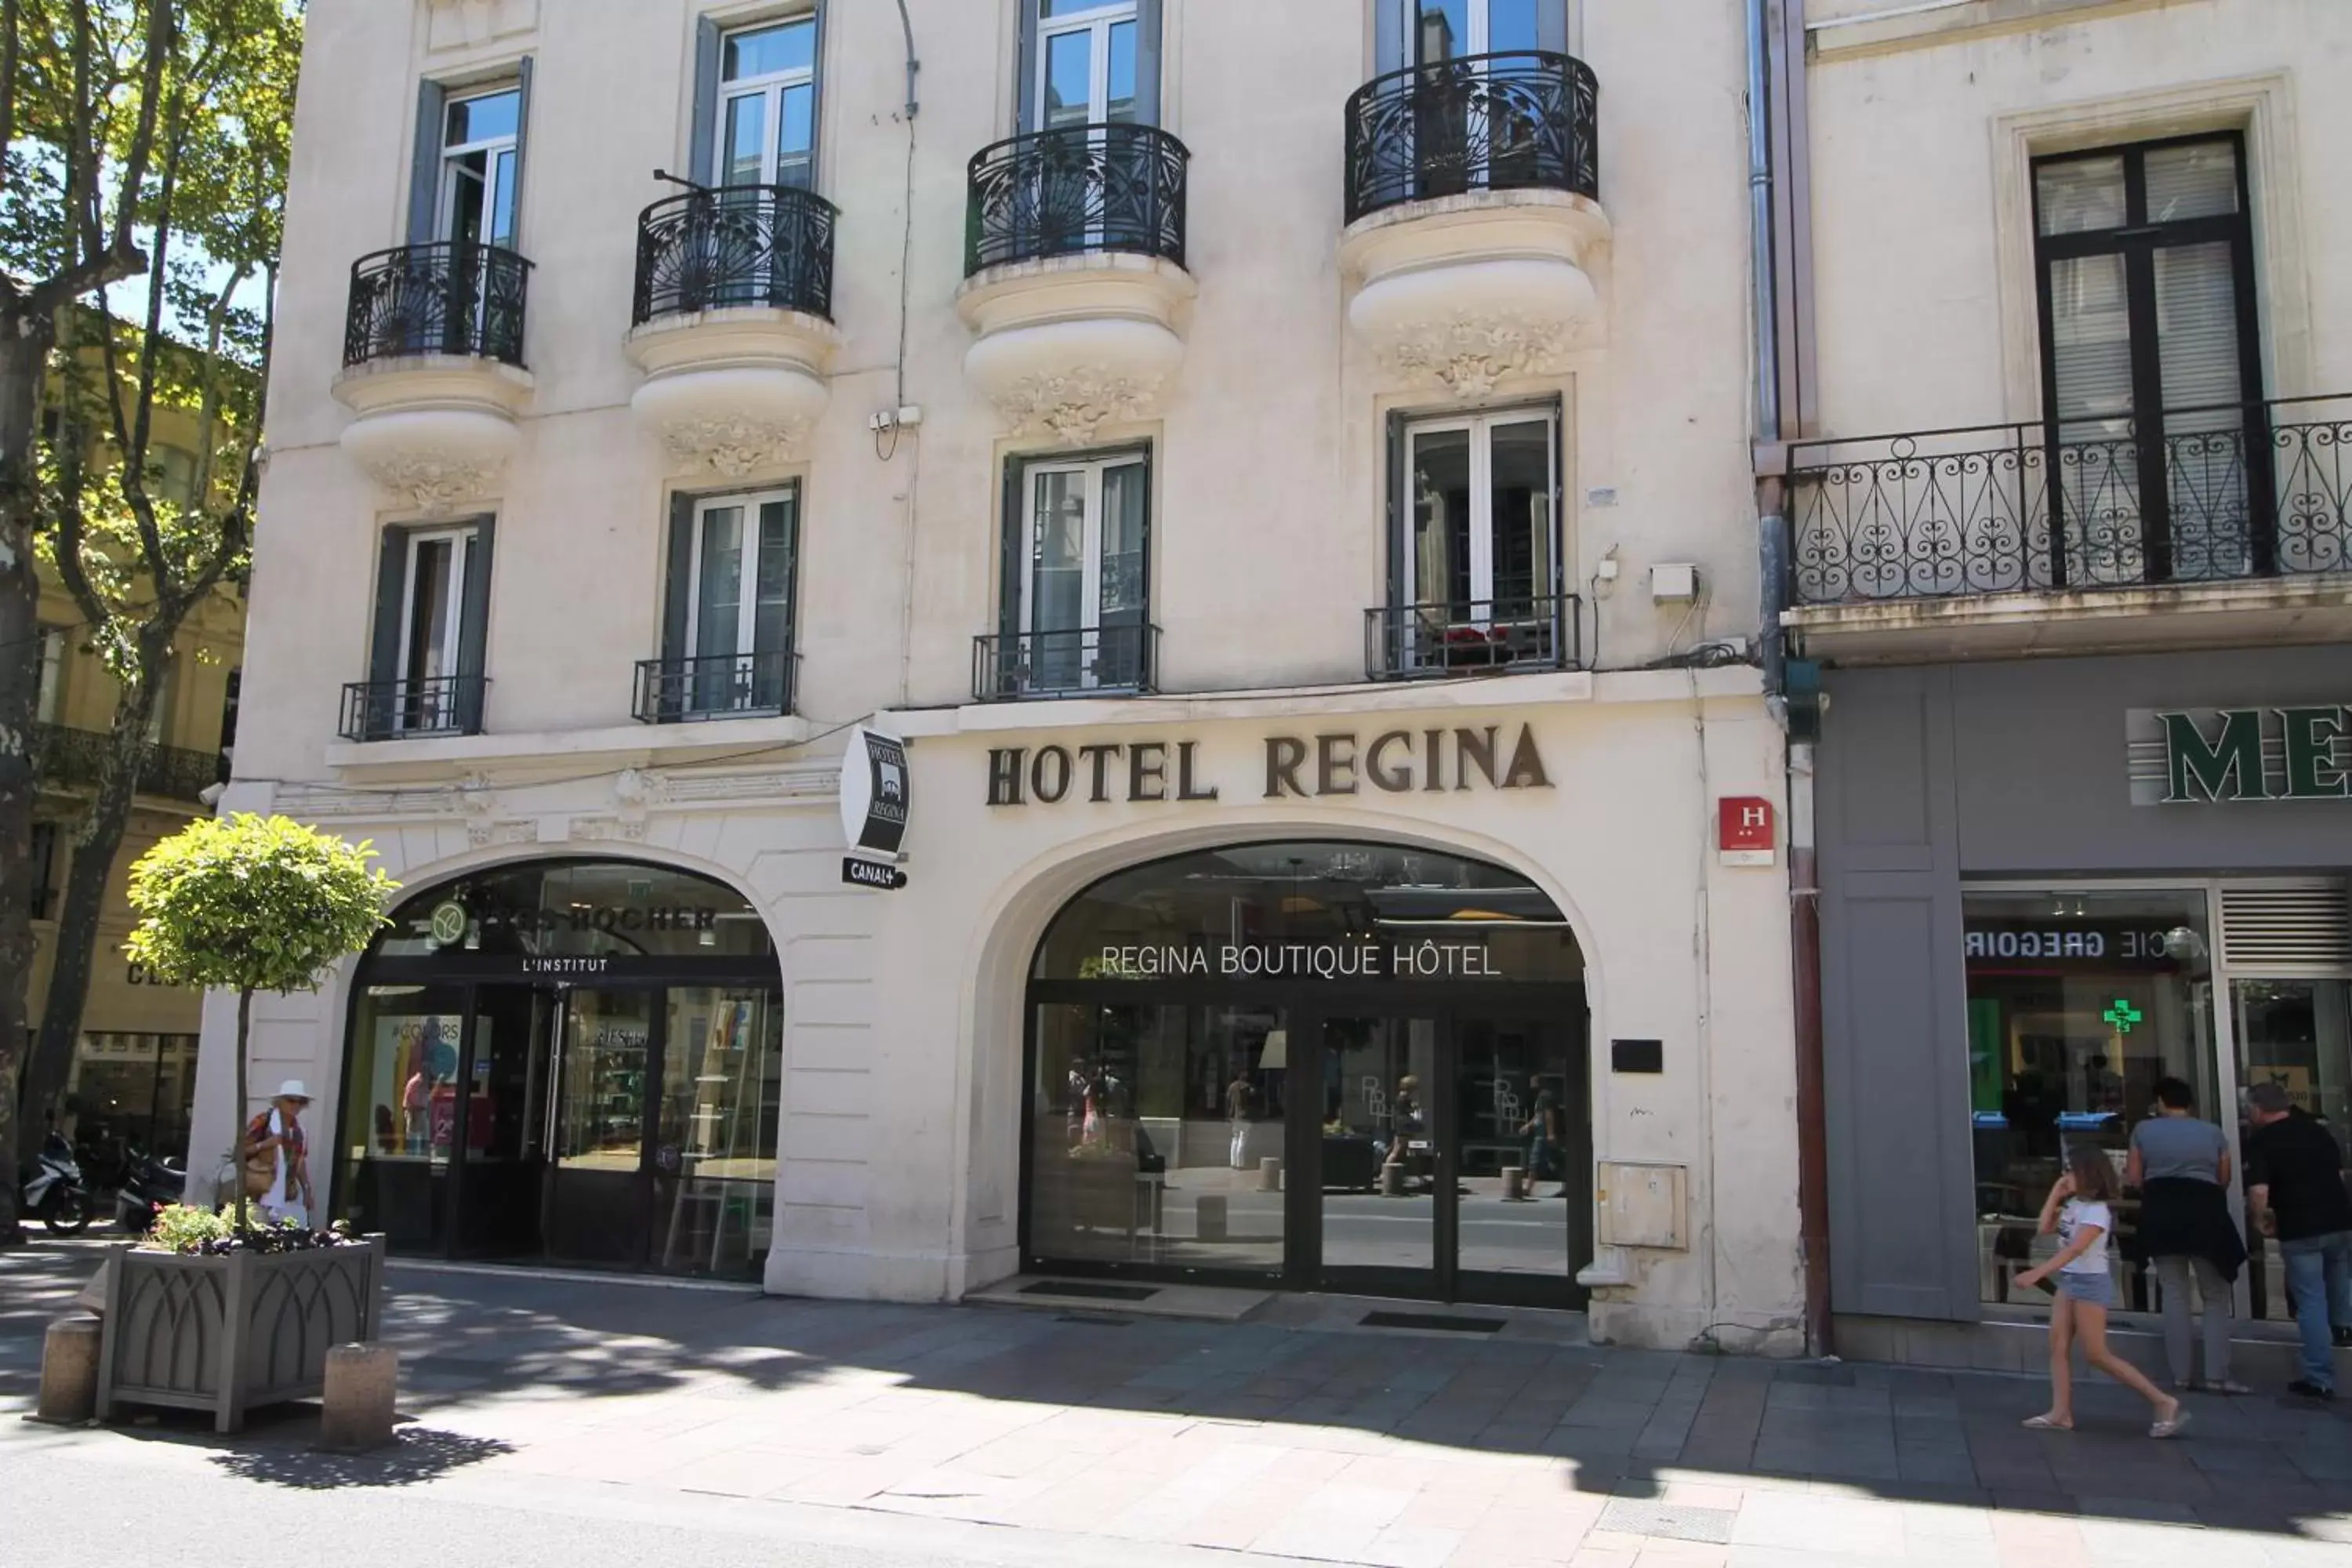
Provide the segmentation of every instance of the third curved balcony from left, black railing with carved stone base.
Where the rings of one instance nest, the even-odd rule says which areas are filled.
[[[1148,418],[1183,364],[1190,153],[1150,125],[1073,125],[971,160],[964,376],[1014,435],[1084,447]]]

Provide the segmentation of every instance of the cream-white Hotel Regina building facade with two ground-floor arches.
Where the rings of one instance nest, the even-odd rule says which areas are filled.
[[[318,7],[223,804],[405,889],[256,1006],[322,1201],[1795,1349],[1745,7],[1679,9]]]

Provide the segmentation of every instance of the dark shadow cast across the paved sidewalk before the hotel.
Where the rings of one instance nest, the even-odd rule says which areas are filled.
[[[87,1253],[66,1272],[94,1267]],[[75,1272],[78,1269],[78,1272]],[[31,1274],[71,1295],[54,1260],[0,1255],[0,1396],[38,1366],[49,1312],[19,1300]],[[2190,1396],[2183,1441],[2150,1441],[2129,1392],[2082,1380],[2072,1434],[2023,1432],[2044,1408],[2037,1378],[1867,1363],[1790,1363],[1430,1333],[1075,1319],[978,1307],[816,1302],[753,1293],[583,1284],[529,1274],[395,1267],[386,1338],[402,1354],[402,1410],[433,1420],[524,1399],[576,1408],[694,1394],[753,1420],[807,1422],[840,1408],[842,1382],[922,1420],[924,1396],[1190,1422],[1381,1434],[1430,1448],[1559,1460],[1559,1493],[1611,1509],[1672,1505],[1670,1488],[1837,1483],[1851,1495],[2082,1519],[2178,1521],[2286,1537],[2347,1535],[2352,1403]],[[814,1392],[762,1406],[750,1392]],[[833,1403],[826,1403],[826,1401]],[[826,1415],[814,1415],[826,1422]],[[1247,1436],[1247,1434],[1244,1434]],[[226,1448],[209,1434],[207,1446]],[[844,1439],[847,1441],[847,1439]],[[278,1486],[405,1486],[496,1453],[412,1429],[397,1455],[343,1460],[242,1441],[233,1474]],[[1444,1450],[1454,1450],[1451,1455]],[[844,1453],[868,1453],[849,1448]]]

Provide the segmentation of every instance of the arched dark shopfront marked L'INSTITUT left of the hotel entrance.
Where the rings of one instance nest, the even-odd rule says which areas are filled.
[[[532,860],[393,912],[353,985],[336,1201],[395,1251],[757,1276],[783,987],[734,889]]]

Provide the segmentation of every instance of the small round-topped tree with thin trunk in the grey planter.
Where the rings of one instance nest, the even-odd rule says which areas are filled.
[[[245,1041],[254,992],[313,990],[327,969],[367,947],[400,889],[369,865],[372,844],[346,844],[287,816],[240,811],[195,820],[132,865],[139,926],[125,952],[167,985],[238,992],[238,1229],[245,1229]]]

